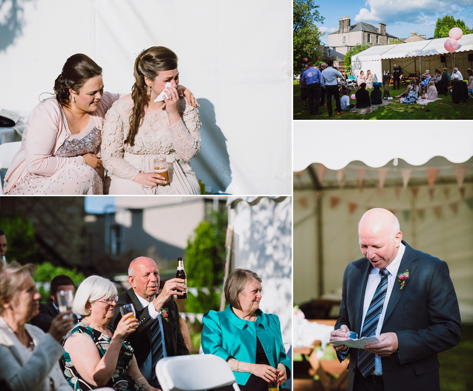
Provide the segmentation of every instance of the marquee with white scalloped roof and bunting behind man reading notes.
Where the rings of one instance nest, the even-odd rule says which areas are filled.
[[[370,121],[362,136],[294,124],[294,303],[341,297],[344,268],[362,256],[357,223],[381,207],[398,216],[409,245],[448,263],[462,321],[471,323],[471,124],[421,123],[415,131],[403,124],[380,130]]]

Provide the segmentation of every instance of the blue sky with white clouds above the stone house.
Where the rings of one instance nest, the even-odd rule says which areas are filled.
[[[344,16],[350,17],[352,25],[366,22],[378,27],[378,23],[384,23],[387,33],[401,38],[415,31],[418,35],[432,37],[437,19],[445,15],[461,19],[473,28],[473,0],[315,0],[314,3],[320,5],[317,9],[325,17],[323,24],[316,23],[325,33],[321,39],[325,44],[327,34],[338,30],[338,21]]]

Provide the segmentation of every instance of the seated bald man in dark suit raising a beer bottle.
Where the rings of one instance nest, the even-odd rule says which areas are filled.
[[[158,360],[166,356],[189,354],[179,326],[177,305],[174,300],[170,300],[174,294],[181,296],[183,293],[180,291],[184,290],[186,285],[182,279],[170,279],[157,295],[158,266],[151,258],[144,256],[135,258],[130,263],[128,282],[132,287],[118,295],[110,324],[116,326],[120,321],[120,306],[133,304],[139,325],[127,340],[135,349],[141,373],[153,387],[159,388],[155,371]]]

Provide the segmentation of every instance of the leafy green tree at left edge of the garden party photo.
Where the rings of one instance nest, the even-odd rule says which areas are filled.
[[[314,0],[294,0],[293,9],[293,68],[294,73],[304,68],[304,57],[307,61],[317,63],[323,54],[317,50],[323,34],[315,22],[323,23],[324,17],[319,14]]]

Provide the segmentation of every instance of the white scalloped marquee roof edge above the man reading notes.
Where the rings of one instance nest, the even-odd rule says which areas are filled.
[[[421,165],[435,156],[463,163],[473,156],[471,121],[368,121],[352,129],[315,130],[312,122],[294,122],[295,172],[312,163],[338,170],[360,160],[382,167],[395,158]],[[441,129],[439,129],[441,128]]]

